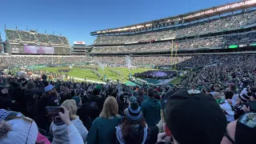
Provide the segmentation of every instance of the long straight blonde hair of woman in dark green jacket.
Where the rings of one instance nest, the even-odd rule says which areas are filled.
[[[114,97],[106,98],[101,114],[99,114],[102,118],[110,118],[112,116],[118,115],[118,102]]]

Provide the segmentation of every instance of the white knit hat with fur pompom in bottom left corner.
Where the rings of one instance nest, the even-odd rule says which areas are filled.
[[[3,112],[3,113],[2,113]],[[0,110],[2,118],[9,115],[9,111]],[[22,144],[35,143],[38,138],[38,126],[30,118],[15,118],[9,121],[0,121],[0,143]]]

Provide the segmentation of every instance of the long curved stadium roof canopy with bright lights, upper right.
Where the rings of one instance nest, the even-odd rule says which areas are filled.
[[[119,28],[108,30],[97,30],[91,32],[91,35],[100,34],[122,34],[122,33],[134,33],[135,31],[155,30],[159,28],[166,28],[175,26],[178,24],[193,22],[203,18],[209,18],[212,16],[226,14],[236,10],[244,10],[250,7],[256,6],[256,0],[243,0],[239,2],[227,3],[225,5],[214,6],[204,10],[197,10],[194,12],[179,14],[173,17],[162,18],[150,22],[138,23],[136,25],[122,26]]]

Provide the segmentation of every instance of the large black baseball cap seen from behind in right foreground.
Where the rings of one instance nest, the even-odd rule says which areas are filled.
[[[226,116],[214,98],[199,90],[179,90],[166,102],[166,125],[179,143],[219,144]]]

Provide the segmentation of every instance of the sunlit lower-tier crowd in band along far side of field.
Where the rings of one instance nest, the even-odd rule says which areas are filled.
[[[143,67],[143,66],[163,66],[166,63],[174,65],[182,61],[186,61],[191,58],[190,56],[170,58],[163,56],[150,56],[150,57],[132,57],[133,66]],[[126,66],[125,57],[89,57],[89,56],[24,56],[24,55],[12,55],[0,56],[1,66],[11,67],[11,66],[35,66],[35,65],[62,65],[62,64],[79,64],[79,63],[92,63],[97,65],[94,60],[97,59],[106,66],[113,67],[123,67]],[[79,66],[81,67],[81,66]],[[82,68],[82,67],[81,67]]]

